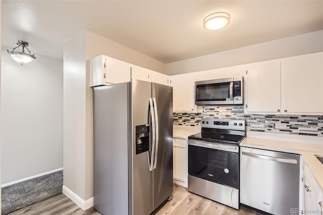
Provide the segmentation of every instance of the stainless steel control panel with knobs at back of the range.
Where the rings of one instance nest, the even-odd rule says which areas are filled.
[[[238,119],[201,119],[201,127],[233,129],[245,131],[245,121]]]

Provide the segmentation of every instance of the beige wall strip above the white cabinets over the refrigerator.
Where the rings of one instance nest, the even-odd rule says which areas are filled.
[[[99,55],[106,55],[156,72],[165,73],[165,63],[103,36],[86,31],[86,59]]]

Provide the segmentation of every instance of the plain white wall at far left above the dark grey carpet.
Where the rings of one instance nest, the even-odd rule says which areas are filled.
[[[63,61],[35,54],[20,65],[7,49],[1,60],[2,184],[63,167]]]

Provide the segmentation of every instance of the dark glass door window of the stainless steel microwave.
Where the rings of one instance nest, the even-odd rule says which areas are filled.
[[[230,83],[196,85],[196,101],[230,101]]]

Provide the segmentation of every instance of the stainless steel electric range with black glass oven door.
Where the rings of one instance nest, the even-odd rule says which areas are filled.
[[[202,119],[188,137],[188,191],[239,209],[239,143],[244,120]]]

